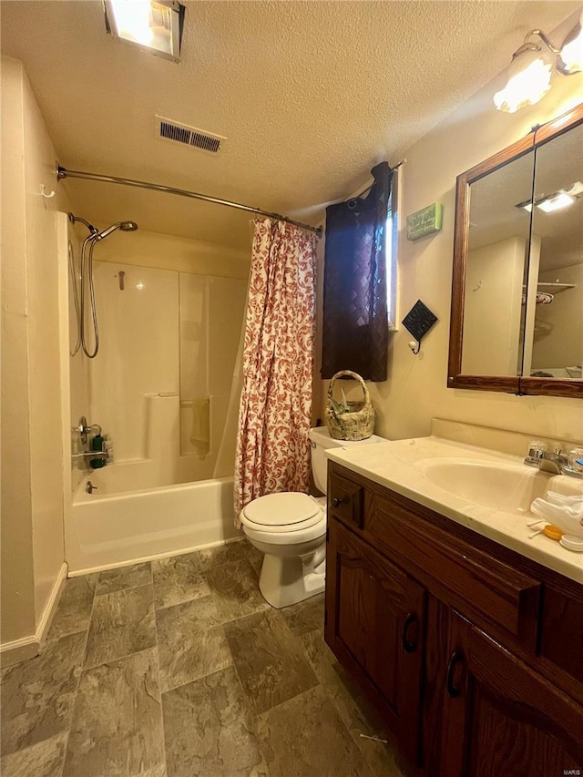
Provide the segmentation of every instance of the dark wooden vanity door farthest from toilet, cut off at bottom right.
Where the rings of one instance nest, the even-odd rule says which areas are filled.
[[[442,777],[583,773],[583,710],[457,613],[450,619]]]

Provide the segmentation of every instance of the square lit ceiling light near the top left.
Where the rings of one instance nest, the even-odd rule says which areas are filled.
[[[111,36],[179,62],[184,5],[178,0],[104,0],[103,5]]]

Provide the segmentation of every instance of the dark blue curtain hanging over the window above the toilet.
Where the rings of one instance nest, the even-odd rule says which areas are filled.
[[[386,380],[386,219],[394,170],[382,162],[371,173],[365,196],[326,209],[322,378],[353,370],[365,380]]]

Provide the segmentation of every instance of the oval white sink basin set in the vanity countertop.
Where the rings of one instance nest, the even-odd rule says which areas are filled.
[[[506,512],[527,512],[533,499],[545,496],[557,479],[526,465],[477,459],[425,459],[417,466],[427,480],[450,494]]]

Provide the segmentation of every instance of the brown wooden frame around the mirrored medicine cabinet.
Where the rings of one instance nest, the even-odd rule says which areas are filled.
[[[475,167],[457,176],[455,188],[454,274],[452,311],[449,329],[448,388],[502,391],[508,394],[546,394],[583,398],[583,380],[533,378],[529,375],[464,375],[462,344],[464,337],[465,264],[467,260],[470,186],[477,180],[557,138],[583,122],[583,103],[563,116],[533,128],[526,138],[498,151]],[[536,170],[535,170],[536,175]],[[583,314],[583,313],[582,313]]]

